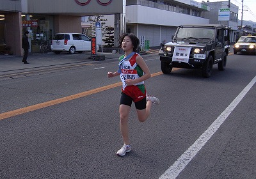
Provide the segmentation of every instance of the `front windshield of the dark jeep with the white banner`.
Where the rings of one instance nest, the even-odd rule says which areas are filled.
[[[183,27],[179,28],[177,38],[214,38],[214,29],[210,28],[195,28],[195,27]]]

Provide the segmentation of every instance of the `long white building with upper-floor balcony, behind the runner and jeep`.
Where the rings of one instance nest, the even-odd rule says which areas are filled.
[[[149,41],[150,47],[170,42],[177,26],[209,24],[209,19],[202,17],[203,12],[209,11],[209,6],[193,0],[126,0],[125,5],[126,32],[140,38],[142,49],[145,40]],[[103,19],[108,19],[106,26],[114,27],[114,15],[106,15]]]

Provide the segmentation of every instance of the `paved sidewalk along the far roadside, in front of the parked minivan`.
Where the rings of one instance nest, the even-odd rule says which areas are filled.
[[[141,56],[154,53],[158,53],[158,50],[150,49],[148,52],[141,53]],[[98,52],[97,55],[104,55],[105,61],[108,61],[109,59],[116,59],[117,61],[122,54]],[[54,65],[95,61],[90,58],[90,56],[90,52],[83,52],[81,54],[68,54],[68,52],[61,52],[61,54],[54,54],[53,52],[48,52],[47,54],[29,53],[27,59],[29,64],[24,64],[22,63],[22,56],[0,55],[0,74],[18,70],[29,70],[30,68],[46,68]]]

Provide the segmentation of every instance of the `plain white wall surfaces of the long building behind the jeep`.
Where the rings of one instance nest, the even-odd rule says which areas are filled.
[[[114,27],[114,15],[105,15],[105,26]],[[183,13],[170,12],[141,5],[126,6],[126,27],[131,28],[138,38],[145,36],[150,47],[159,46],[161,42],[170,42],[178,26],[185,24],[209,24],[209,19]]]

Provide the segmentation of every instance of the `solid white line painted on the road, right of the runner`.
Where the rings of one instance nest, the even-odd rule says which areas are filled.
[[[172,166],[170,166],[159,179],[174,179],[180,172],[189,164],[189,162],[195,157],[195,155],[201,150],[201,148],[209,141],[212,135],[218,130],[221,124],[227,119],[230,113],[236,108],[237,104],[241,102],[243,97],[252,88],[256,82],[256,76],[252,81],[241,91],[241,93],[228,105],[228,107],[218,116],[218,118],[211,124],[207,130],[196,139],[195,143],[192,144],[186,152],[184,152]]]

